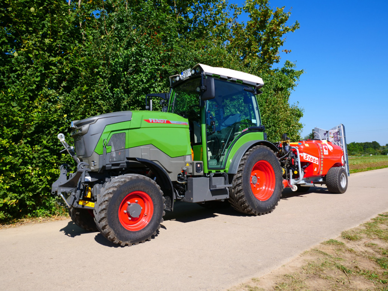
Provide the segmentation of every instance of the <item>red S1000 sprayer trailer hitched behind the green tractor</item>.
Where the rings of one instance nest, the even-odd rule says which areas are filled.
[[[313,133],[314,139],[299,142],[290,142],[284,134],[276,143],[282,154],[279,161],[284,187],[305,192],[311,186],[326,184],[330,192],[344,193],[349,176],[345,126],[315,128]]]

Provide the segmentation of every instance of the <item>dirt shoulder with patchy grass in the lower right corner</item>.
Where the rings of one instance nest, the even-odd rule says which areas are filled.
[[[388,213],[229,291],[388,291]]]

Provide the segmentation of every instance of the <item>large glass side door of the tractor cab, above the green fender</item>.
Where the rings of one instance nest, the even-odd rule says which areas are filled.
[[[214,80],[215,98],[206,101],[208,168],[225,167],[227,150],[249,126],[261,125],[256,96],[245,85]]]

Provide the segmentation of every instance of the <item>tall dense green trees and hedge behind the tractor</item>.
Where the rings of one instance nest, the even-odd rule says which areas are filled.
[[[71,120],[144,109],[145,94],[167,92],[168,76],[196,63],[262,76],[269,139],[298,139],[303,112],[289,95],[303,71],[271,69],[299,27],[289,15],[268,0],[3,0],[0,220],[60,211],[50,187],[72,162],[56,136]]]

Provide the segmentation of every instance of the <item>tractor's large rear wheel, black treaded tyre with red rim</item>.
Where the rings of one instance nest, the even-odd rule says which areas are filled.
[[[257,145],[240,161],[232,179],[229,202],[242,213],[270,213],[282,195],[282,180],[281,166],[274,152],[264,145]]]

